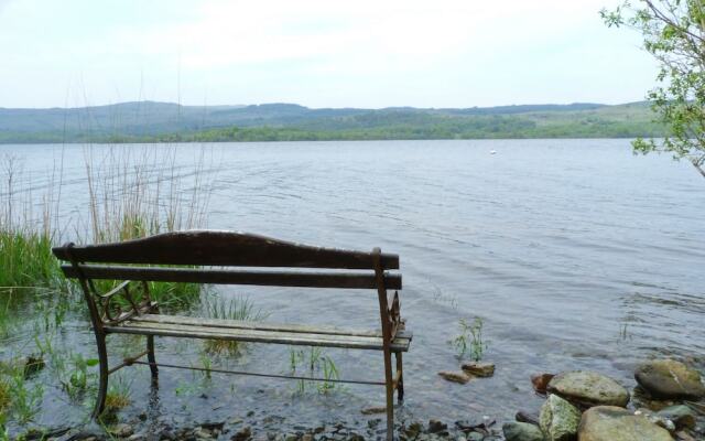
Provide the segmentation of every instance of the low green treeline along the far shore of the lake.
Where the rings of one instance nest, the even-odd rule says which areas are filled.
[[[640,115],[642,116],[642,115]],[[209,129],[134,133],[84,130],[0,131],[0,143],[55,142],[263,142],[334,140],[423,139],[531,139],[531,138],[638,138],[662,137],[664,127],[651,118],[615,118],[608,115],[545,114],[512,116],[434,116],[413,118],[359,118],[292,126],[229,126]]]

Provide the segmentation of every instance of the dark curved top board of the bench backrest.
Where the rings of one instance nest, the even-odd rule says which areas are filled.
[[[53,248],[56,257],[82,262],[372,269],[372,254],[319,248],[271,237],[219,230],[164,233],[122,243]],[[399,256],[382,255],[384,269]]]

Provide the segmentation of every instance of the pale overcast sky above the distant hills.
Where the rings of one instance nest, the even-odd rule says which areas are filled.
[[[0,107],[643,99],[614,0],[0,0]]]

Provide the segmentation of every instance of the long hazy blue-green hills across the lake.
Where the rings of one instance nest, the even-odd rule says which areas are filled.
[[[660,136],[646,103],[473,108],[319,108],[295,104],[181,106],[134,101],[0,108],[0,142],[152,142],[317,139],[584,138]]]

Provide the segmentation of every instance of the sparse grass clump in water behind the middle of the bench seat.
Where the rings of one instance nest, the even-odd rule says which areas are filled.
[[[223,299],[215,295],[206,297],[204,299],[203,310],[204,316],[208,319],[245,322],[260,322],[269,315],[261,309],[256,308],[250,299],[240,297],[232,299]],[[239,355],[245,347],[243,342],[232,340],[206,340],[204,345],[205,351],[209,354],[228,353],[229,355]]]

